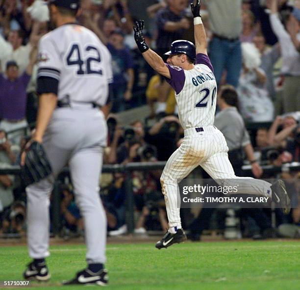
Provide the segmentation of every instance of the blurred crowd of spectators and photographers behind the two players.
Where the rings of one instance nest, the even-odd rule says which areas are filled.
[[[52,27],[30,14],[27,8],[33,2],[0,0],[1,167],[18,164],[27,133],[36,120],[37,46]],[[138,2],[137,5],[136,0],[82,0],[82,12],[77,19],[93,30],[112,54],[113,101],[112,114],[107,119],[104,164],[165,161],[183,137],[175,92],[138,51],[132,26],[134,20],[144,19],[147,44],[164,58],[174,40],[193,41],[189,1]],[[300,162],[300,0],[202,2],[208,52],[218,83],[215,126],[225,135],[236,174],[243,176],[242,166],[249,164],[256,178],[299,179],[299,171],[288,171],[284,165]],[[142,105],[148,106],[148,115],[131,124],[120,121],[120,112]],[[261,165],[283,170],[275,174],[263,171]],[[136,234],[168,227],[160,174],[160,170],[134,171],[129,177],[136,208]],[[208,177],[201,170],[194,174]],[[103,174],[101,178],[100,193],[111,236],[127,231],[126,179],[128,176],[121,173]],[[62,183],[62,235],[82,235],[82,218],[72,186]],[[25,233],[25,202],[22,180],[18,176],[0,175],[1,233]],[[299,224],[300,202],[297,198],[292,202],[296,209],[288,217],[277,213],[276,227]],[[196,225],[194,239],[201,235],[199,220],[206,220],[201,225],[203,229],[209,227],[208,217],[213,214],[201,212],[192,223],[191,212],[184,212],[185,228],[190,227],[193,233]],[[270,212],[244,212],[241,219],[255,224],[260,233],[273,233]],[[261,224],[261,220],[266,222]]]

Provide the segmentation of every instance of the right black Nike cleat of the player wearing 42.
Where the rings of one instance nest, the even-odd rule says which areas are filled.
[[[108,284],[108,272],[106,269],[102,269],[97,273],[92,272],[88,268],[78,272],[76,277],[69,281],[63,281],[63,285],[99,285],[107,286]]]

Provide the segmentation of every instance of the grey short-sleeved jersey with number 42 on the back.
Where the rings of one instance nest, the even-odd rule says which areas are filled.
[[[41,38],[37,77],[59,80],[58,100],[105,105],[113,77],[111,55],[94,32],[66,24]]]

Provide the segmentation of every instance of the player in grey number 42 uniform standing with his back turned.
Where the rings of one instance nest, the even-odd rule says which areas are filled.
[[[99,178],[112,80],[111,56],[89,29],[75,24],[79,0],[52,0],[50,20],[56,28],[39,43],[37,90],[40,94],[33,141],[42,143],[52,174],[26,187],[28,249],[33,261],[24,278],[47,281],[49,196],[53,181],[69,163],[75,198],[84,217],[87,268],[64,284],[108,283],[104,269],[106,217],[99,197]],[[102,110],[99,108],[102,107]],[[29,154],[29,153],[28,153]],[[21,165],[25,163],[25,154]]]

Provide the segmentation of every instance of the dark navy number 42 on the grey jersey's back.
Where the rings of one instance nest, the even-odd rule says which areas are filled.
[[[92,70],[92,62],[101,62],[100,53],[98,49],[94,46],[89,45],[85,49],[86,52],[95,52],[97,56],[90,56],[86,59],[86,72],[83,70],[84,61],[81,58],[80,49],[78,44],[73,44],[71,50],[67,56],[67,64],[68,65],[78,65],[77,75],[84,75],[84,74],[98,74],[102,75],[102,71],[94,71]]]

